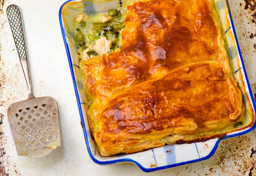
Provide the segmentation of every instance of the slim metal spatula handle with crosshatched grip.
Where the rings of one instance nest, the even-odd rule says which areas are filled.
[[[31,76],[29,72],[28,53],[26,49],[25,31],[22,20],[21,9],[17,5],[9,5],[6,9],[9,24],[11,26],[12,36],[21,61],[21,66],[28,86],[28,99],[33,98]]]

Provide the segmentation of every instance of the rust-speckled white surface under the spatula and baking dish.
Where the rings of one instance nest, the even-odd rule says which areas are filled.
[[[58,11],[65,0],[0,0],[0,175],[256,175],[256,131],[224,140],[208,160],[145,173],[135,164],[97,165],[83,140]],[[256,97],[256,0],[230,0],[252,92]],[[62,146],[46,157],[18,157],[6,110],[25,100],[27,88],[6,17],[21,7],[33,92],[58,101]]]

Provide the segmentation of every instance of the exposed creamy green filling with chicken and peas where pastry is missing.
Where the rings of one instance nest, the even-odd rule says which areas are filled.
[[[112,9],[116,11],[116,15],[110,16],[109,12],[103,14],[90,15],[86,19],[80,19],[80,16],[85,15],[82,13],[73,21],[73,33],[76,40],[76,48],[80,59],[88,59],[93,56],[101,56],[109,52],[114,52],[119,50],[120,46],[120,34],[119,32],[124,28],[123,25],[123,12],[118,11],[117,9]],[[86,15],[87,16],[87,15]],[[98,39],[106,38],[106,43],[100,43],[95,46]],[[97,42],[99,43],[99,41]],[[111,43],[111,45],[109,45]],[[99,52],[99,49],[107,50],[108,52]],[[109,47],[109,48],[104,48]],[[87,55],[84,56],[85,50],[88,50]],[[87,56],[89,56],[87,58]]]

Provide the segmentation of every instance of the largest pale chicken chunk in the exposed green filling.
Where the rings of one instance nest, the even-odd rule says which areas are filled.
[[[93,50],[95,50],[99,55],[106,55],[108,52],[110,52],[111,46],[112,40],[107,40],[106,37],[103,37],[96,40]]]

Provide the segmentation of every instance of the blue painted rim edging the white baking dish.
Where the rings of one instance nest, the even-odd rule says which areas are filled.
[[[82,107],[81,107],[81,103],[80,103],[80,98],[79,98],[79,93],[78,93],[78,88],[77,88],[77,85],[76,85],[76,79],[75,79],[75,74],[73,72],[73,64],[72,64],[72,59],[71,59],[71,56],[70,56],[70,52],[69,52],[69,46],[68,46],[68,42],[66,41],[66,38],[65,38],[65,28],[63,26],[63,23],[62,23],[62,8],[65,4],[67,4],[68,2],[70,1],[75,1],[75,0],[68,0],[66,2],[64,2],[61,6],[60,6],[60,9],[59,9],[59,22],[60,22],[60,29],[62,31],[62,36],[63,36],[63,40],[64,40],[64,44],[65,44],[65,48],[66,48],[66,53],[67,53],[67,56],[68,56],[68,61],[69,61],[69,67],[70,67],[70,72],[71,72],[71,76],[72,76],[72,80],[73,80],[73,84],[74,84],[74,89],[75,89],[75,94],[76,94],[76,99],[77,99],[77,102],[78,102],[78,108],[79,108],[79,113],[80,113],[80,120],[83,124],[82,128],[83,128],[83,133],[84,133],[84,137],[85,137],[85,142],[86,142],[86,147],[87,147],[87,151],[90,155],[90,158],[92,158],[92,160],[97,163],[97,164],[114,164],[114,163],[121,163],[121,162],[131,162],[131,163],[134,163],[136,164],[141,170],[143,170],[144,172],[151,172],[151,171],[157,171],[157,170],[163,170],[163,169],[167,169],[167,168],[173,168],[173,167],[177,167],[177,166],[180,166],[180,165],[185,165],[185,164],[191,164],[191,163],[196,163],[198,161],[204,161],[204,160],[207,160],[208,158],[212,157],[213,154],[215,153],[215,151],[217,150],[218,148],[218,144],[220,144],[220,141],[221,140],[224,140],[224,139],[227,139],[227,138],[231,138],[231,137],[237,137],[237,136],[241,136],[243,134],[247,134],[249,132],[251,132],[252,130],[255,129],[255,121],[256,119],[254,120],[254,125],[251,127],[251,128],[248,128],[247,130],[245,131],[242,131],[241,133],[236,133],[236,134],[228,134],[227,136],[225,136],[223,139],[218,139],[213,147],[213,150],[211,150],[211,152],[206,156],[206,157],[202,157],[202,158],[198,158],[196,160],[191,160],[191,161],[185,161],[185,162],[181,162],[181,163],[176,163],[176,164],[169,164],[169,165],[164,165],[162,167],[156,167],[156,168],[144,168],[140,163],[138,163],[137,161],[134,161],[130,158],[123,158],[123,159],[117,159],[117,160],[111,160],[111,161],[99,161],[97,160],[94,155],[92,154],[92,151],[90,150],[90,145],[89,145],[89,141],[88,141],[88,134],[86,132],[86,128],[85,128],[85,120],[84,120],[84,117],[83,117],[83,112],[82,112]],[[230,21],[231,21],[231,27],[230,28],[233,28],[233,32],[234,32],[234,36],[235,36],[235,42],[237,44],[237,49],[238,49],[238,53],[239,53],[239,56],[240,56],[240,61],[242,63],[242,68],[244,70],[244,75],[245,75],[245,80],[247,82],[247,87],[248,87],[248,91],[250,93],[250,98],[252,100],[252,106],[254,107],[254,110],[256,110],[256,104],[255,104],[255,101],[254,101],[254,96],[252,94],[252,90],[251,90],[251,86],[250,86],[250,82],[249,82],[249,79],[248,79],[248,76],[247,76],[247,71],[245,69],[245,65],[244,65],[244,60],[242,59],[242,53],[241,53],[241,49],[240,49],[240,45],[238,43],[238,39],[237,39],[237,33],[235,32],[235,27],[234,27],[234,22],[233,22],[233,18],[232,18],[232,15],[231,15],[231,11],[230,11],[230,5],[228,3],[228,0],[226,0],[226,4],[227,4],[227,8],[228,8],[228,15],[230,16]],[[229,29],[230,29],[229,28]],[[228,29],[228,30],[229,30]],[[89,134],[90,135],[90,134]]]

